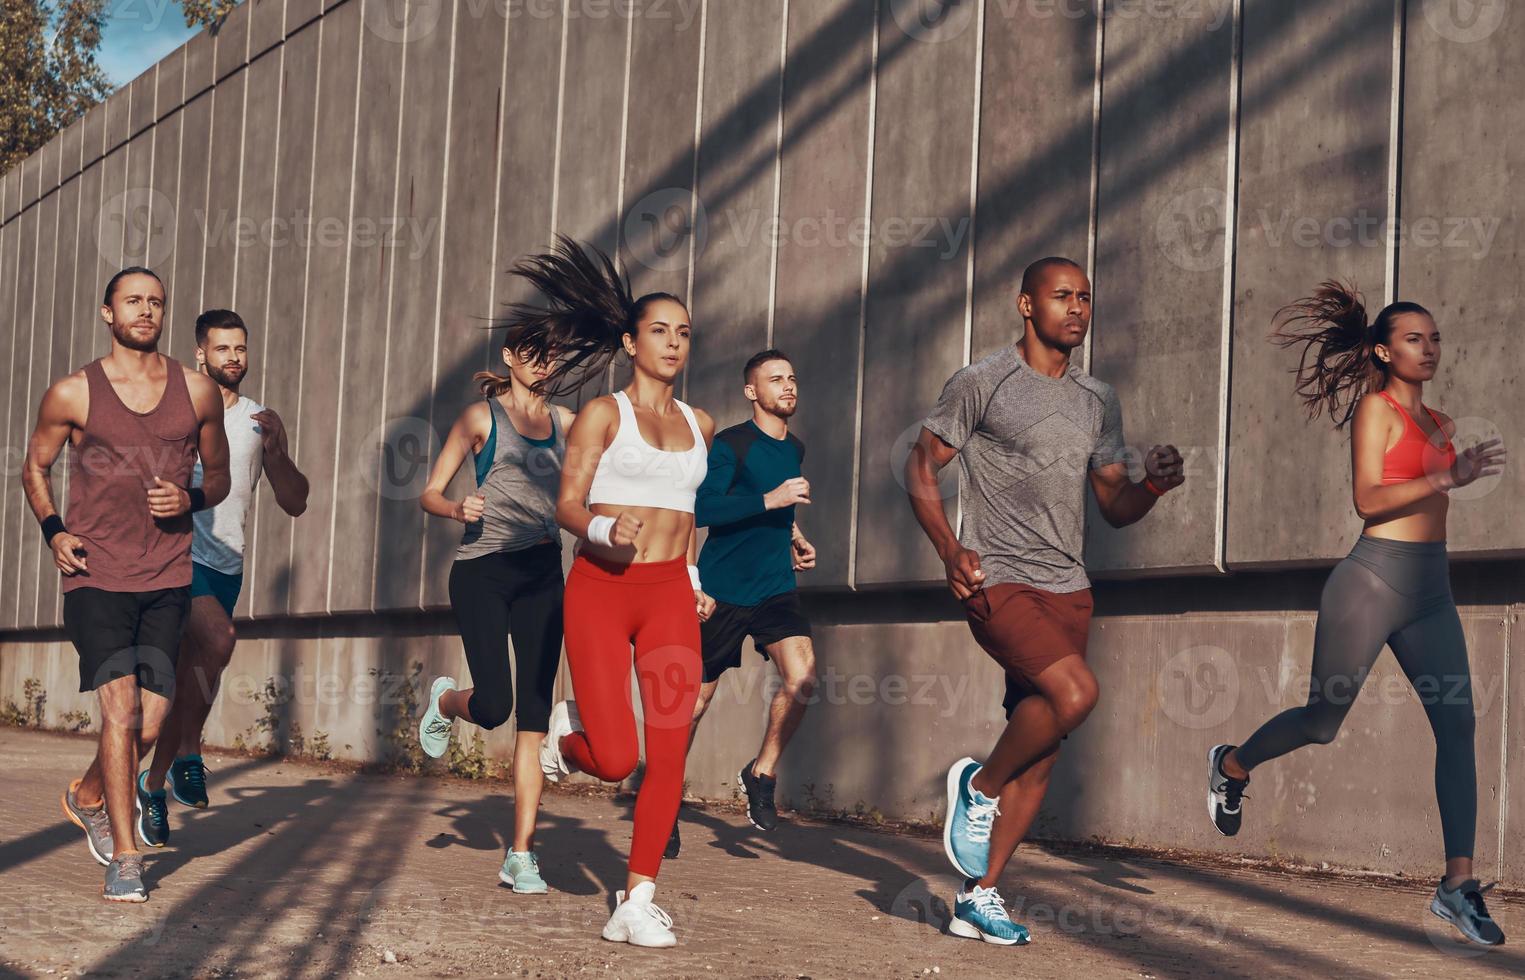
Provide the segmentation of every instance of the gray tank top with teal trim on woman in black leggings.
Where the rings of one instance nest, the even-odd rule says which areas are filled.
[[[467,524],[456,559],[517,552],[544,538],[561,541],[557,495],[567,444],[557,410],[551,410],[551,436],[531,440],[518,434],[496,398],[486,404],[493,431],[476,454],[477,491],[486,503],[482,520]]]

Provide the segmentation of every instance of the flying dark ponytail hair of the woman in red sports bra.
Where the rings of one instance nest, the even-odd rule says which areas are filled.
[[[1391,341],[1392,322],[1409,312],[1430,315],[1418,303],[1392,303],[1368,322],[1356,285],[1333,279],[1276,311],[1270,340],[1278,347],[1302,346],[1292,373],[1310,419],[1328,412],[1334,425],[1344,427],[1363,395],[1386,387],[1388,366],[1376,347]]]

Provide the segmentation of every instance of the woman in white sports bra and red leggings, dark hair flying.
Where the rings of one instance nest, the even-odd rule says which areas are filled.
[[[683,796],[702,677],[698,622],[715,608],[694,567],[694,495],[708,471],[715,422],[673,396],[691,331],[676,296],[631,299],[608,256],[569,238],[514,273],[546,299],[544,308],[517,305],[509,312],[515,351],[531,360],[558,357],[540,390],[563,395],[602,378],[619,351],[634,369],[624,390],[584,404],[567,433],[557,521],[580,538],[564,599],[576,701],[552,707],[540,761],[552,780],[583,771],[619,782],[634,771],[634,665],[647,770],[625,890],[602,934],[671,946],[673,921],[651,899]]]

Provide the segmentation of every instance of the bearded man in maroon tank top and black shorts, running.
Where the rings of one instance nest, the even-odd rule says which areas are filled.
[[[165,287],[146,268],[111,277],[101,319],[111,352],[43,396],[26,453],[32,514],[64,576],[64,628],[79,651],[79,690],[101,704],[101,744],[64,791],[64,814],[107,866],[107,899],[142,902],[133,841],[139,757],[159,736],[191,605],[191,512],[229,489],[217,384],[159,354]],[[70,447],[69,526],[53,504],[53,460]],[[201,459],[203,482],[191,486]]]

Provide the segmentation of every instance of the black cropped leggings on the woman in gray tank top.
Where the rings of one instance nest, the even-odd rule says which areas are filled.
[[[561,660],[561,590],[560,543],[458,559],[450,567],[450,605],[474,686],[467,710],[479,727],[496,729],[512,710],[518,712],[520,732],[551,727],[551,689]]]

